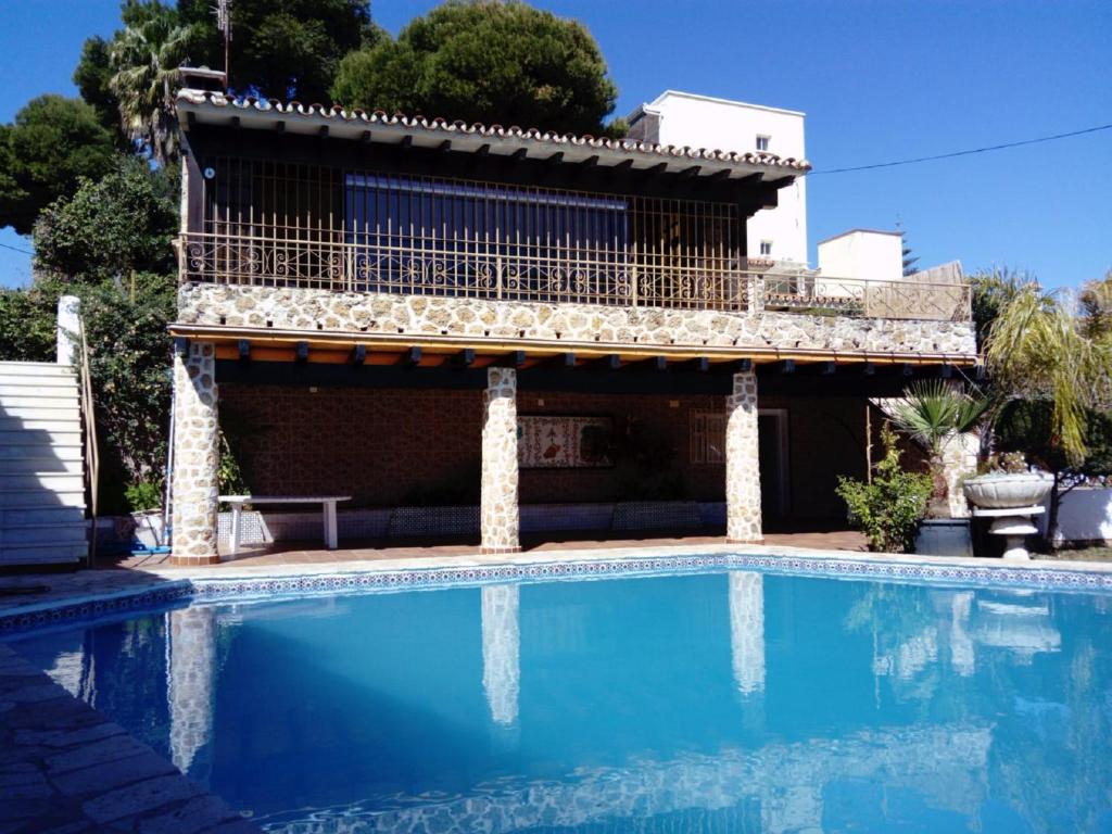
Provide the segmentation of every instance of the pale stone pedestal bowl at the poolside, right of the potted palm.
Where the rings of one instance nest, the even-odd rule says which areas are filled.
[[[1026,537],[1039,532],[1032,517],[1042,515],[1054,478],[1042,473],[999,473],[970,478],[963,485],[973,515],[993,519],[989,533],[1004,537],[1005,559],[1030,559]]]

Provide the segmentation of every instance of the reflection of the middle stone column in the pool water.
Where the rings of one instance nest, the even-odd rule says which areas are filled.
[[[495,724],[517,721],[522,688],[517,585],[483,586],[483,689]]]

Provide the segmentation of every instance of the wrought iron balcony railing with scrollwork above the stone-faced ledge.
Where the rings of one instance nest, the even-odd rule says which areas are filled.
[[[913,279],[832,278],[726,257],[669,259],[636,251],[512,244],[458,248],[367,246],[187,234],[182,281],[393,292],[548,304],[759,311],[936,321],[971,320],[970,288]]]

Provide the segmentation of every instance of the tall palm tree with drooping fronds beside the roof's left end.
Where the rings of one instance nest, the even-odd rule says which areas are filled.
[[[198,32],[181,26],[177,10],[160,0],[128,0],[121,17],[125,28],[109,52],[109,87],[119,101],[125,133],[166,165],[178,155],[178,68]]]

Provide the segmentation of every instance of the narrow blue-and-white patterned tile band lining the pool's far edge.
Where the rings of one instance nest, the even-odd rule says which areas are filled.
[[[678,548],[676,548],[678,549]],[[324,567],[324,566],[322,566]],[[495,564],[436,565],[429,567],[367,567],[325,569],[286,575],[198,576],[171,578],[170,572],[152,577],[161,585],[90,594],[58,599],[0,613],[0,635],[108,616],[179,600],[215,602],[234,597],[279,596],[357,589],[434,588],[451,585],[638,576],[655,573],[698,572],[706,568],[751,568],[773,574],[814,577],[884,579],[890,582],[932,580],[946,584],[1013,586],[1046,590],[1112,590],[1112,570],[1035,565],[979,565],[916,562],[906,557],[823,554],[768,554],[718,552],[704,554],[663,553],[646,556],[593,558],[517,558]]]

